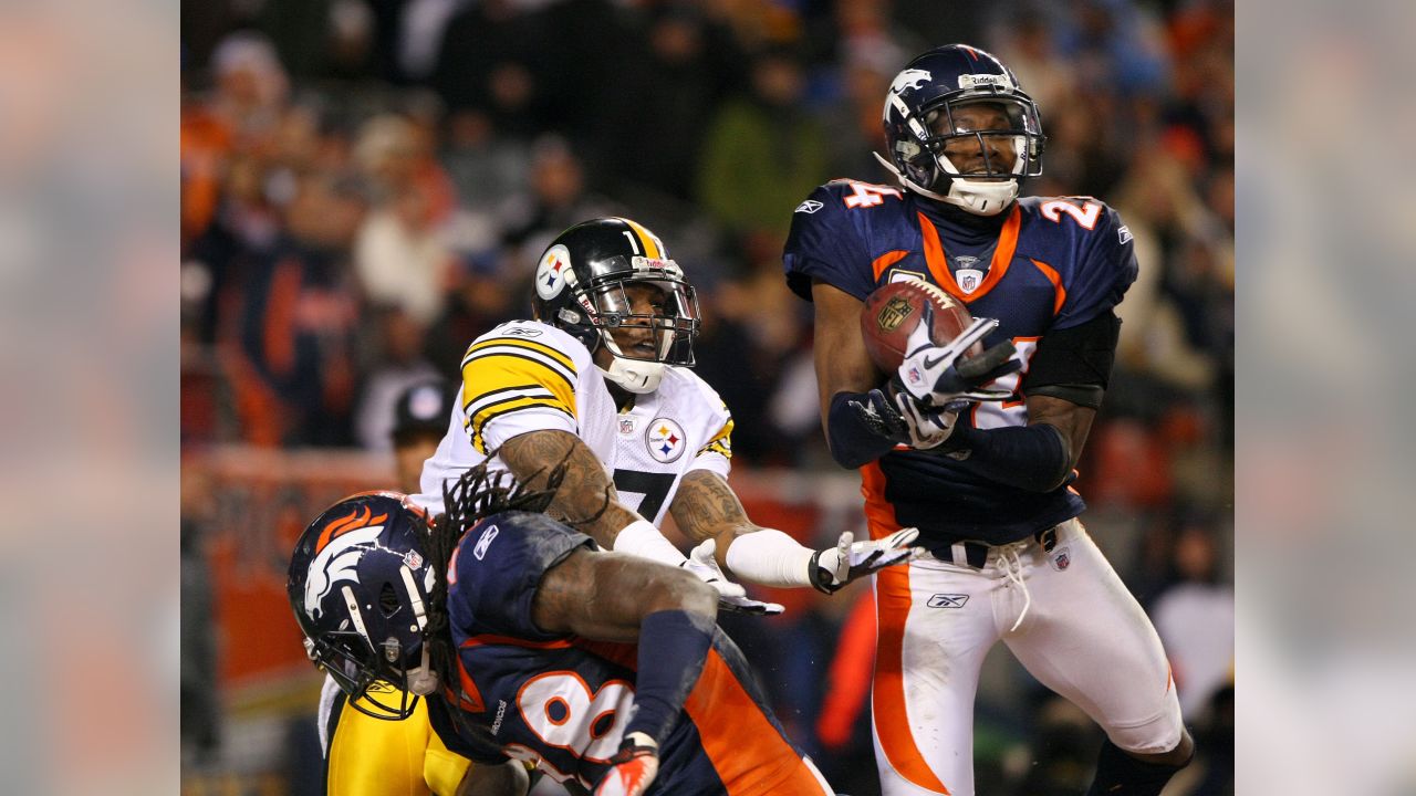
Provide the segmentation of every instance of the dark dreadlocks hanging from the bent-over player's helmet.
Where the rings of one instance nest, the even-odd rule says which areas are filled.
[[[518,482],[507,470],[493,470],[487,463],[496,457],[496,450],[487,453],[487,460],[472,467],[452,486],[443,484],[445,514],[429,524],[428,554],[435,562],[439,576],[433,579],[429,593],[428,657],[433,670],[449,697],[452,708],[449,712],[457,731],[469,738],[489,738],[487,729],[473,724],[462,705],[470,704],[462,684],[462,667],[457,660],[457,647],[452,640],[452,623],[447,613],[447,571],[452,564],[452,554],[457,550],[462,537],[470,531],[477,521],[503,511],[532,511],[544,513],[555,499],[555,490],[565,480],[566,459],[562,459],[547,474],[545,486],[530,489],[528,482],[537,479],[544,470],[537,470],[525,482]],[[603,513],[603,508],[602,508]]]

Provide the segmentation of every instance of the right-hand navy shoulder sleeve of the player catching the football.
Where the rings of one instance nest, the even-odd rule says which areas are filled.
[[[1078,235],[1076,261],[1054,330],[1079,326],[1121,303],[1140,268],[1131,231],[1110,207],[1103,204],[1096,227],[1078,228]]]

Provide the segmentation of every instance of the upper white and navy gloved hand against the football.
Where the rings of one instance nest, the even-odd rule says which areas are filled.
[[[969,329],[943,346],[935,346],[929,339],[933,326],[933,307],[926,303],[923,317],[909,334],[905,361],[891,377],[891,391],[898,398],[909,395],[920,406],[946,406],[956,401],[1003,401],[1011,391],[983,390],[984,384],[1022,368],[1012,358],[1017,350],[1011,340],[1004,340],[981,354],[969,357],[966,351],[993,331],[998,322],[991,317],[976,317]]]

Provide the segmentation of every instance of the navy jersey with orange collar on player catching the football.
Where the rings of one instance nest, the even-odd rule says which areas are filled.
[[[1136,280],[1131,234],[1114,210],[1090,197],[1029,197],[993,220],[952,221],[908,191],[851,180],[817,188],[797,205],[783,252],[787,285],[811,299],[821,280],[857,299],[913,278],[961,300],[1011,339],[1022,370],[987,387],[1010,391],[959,422],[990,429],[1025,425],[1028,363],[1049,331],[1110,310]],[[903,446],[862,467],[867,511],[918,525],[923,544],[1005,544],[1086,508],[1069,484],[1027,491],[970,470],[967,462]],[[1070,482],[1072,479],[1068,479]]]

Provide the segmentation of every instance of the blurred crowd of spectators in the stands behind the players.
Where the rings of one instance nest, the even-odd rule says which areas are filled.
[[[1117,368],[1078,489],[1096,535],[1114,528],[1124,545],[1112,558],[1175,657],[1188,715],[1204,722],[1206,765],[1187,792],[1225,792],[1235,282],[1225,0],[184,8],[183,449],[387,449],[404,388],[455,378],[473,337],[528,314],[531,269],[555,234],[623,214],[654,229],[700,290],[698,373],[736,418],[735,466],[834,467],[809,309],[786,289],[782,242],[817,184],[889,181],[871,157],[889,81],[912,55],[954,41],[997,54],[1039,105],[1045,174],[1027,191],[1100,197],[1136,237],[1141,276],[1120,307]],[[745,643],[749,657],[807,661],[766,667],[780,676],[769,687],[789,705],[779,715],[810,720],[804,744],[840,768],[824,765],[828,776],[874,773],[858,762],[869,756],[858,708],[811,724],[817,710],[801,707],[824,698],[828,669],[848,674],[837,653],[855,613],[807,612],[793,633]],[[783,639],[811,654],[793,657]],[[807,676],[816,686],[803,693]],[[1099,739],[1065,704],[1027,710],[993,721],[1004,738],[993,752],[980,732],[980,756],[997,763],[990,788],[980,759],[980,789],[1080,792],[1073,780],[1085,782]],[[980,721],[990,722],[987,704]],[[1008,739],[1031,751],[1020,756]]]

